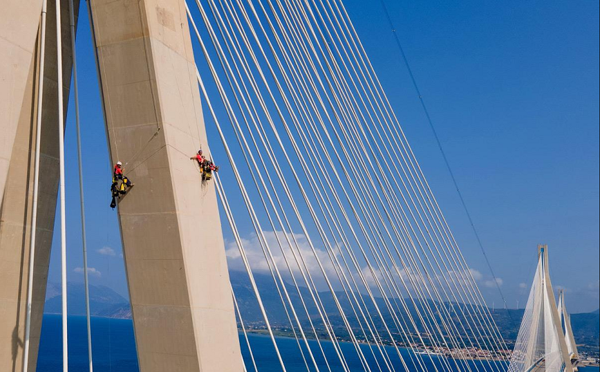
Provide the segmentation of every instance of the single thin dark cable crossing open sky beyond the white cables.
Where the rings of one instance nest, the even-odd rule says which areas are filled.
[[[421,94],[421,91],[419,90],[419,86],[417,85],[417,80],[415,80],[415,75],[413,75],[413,70],[411,69],[411,66],[409,64],[409,59],[406,58],[406,54],[404,53],[404,48],[402,48],[402,43],[400,43],[400,38],[398,38],[398,34],[395,30],[394,24],[392,22],[389,12],[388,12],[388,8],[386,7],[384,0],[379,0],[379,1],[382,4],[382,8],[384,9],[386,18],[388,19],[388,23],[389,23],[392,33],[394,35],[396,45],[398,46],[398,49],[400,49],[400,54],[402,55],[402,59],[404,60],[404,65],[406,65],[406,70],[409,71],[409,75],[411,77],[411,81],[413,82],[413,86],[415,87],[415,91],[419,95],[419,101],[421,102],[421,106],[422,106],[425,116],[427,118],[427,122],[429,122],[429,127],[431,128],[431,131],[433,132],[433,136],[435,137],[435,142],[438,143],[438,148],[440,149],[440,153],[442,153],[442,158],[444,158],[444,163],[446,164],[446,167],[448,169],[450,177],[452,178],[452,183],[454,184],[454,187],[456,188],[456,192],[458,193],[458,198],[460,198],[460,203],[462,204],[462,207],[465,209],[467,218],[469,218],[469,223],[471,224],[471,228],[473,229],[473,232],[477,239],[477,243],[479,244],[479,248],[481,248],[481,252],[483,254],[483,257],[485,258],[485,262],[487,263],[487,268],[489,268],[489,272],[491,272],[491,277],[494,278],[494,283],[496,284],[496,288],[498,288],[498,292],[500,293],[500,297],[502,297],[502,300],[504,301],[505,308],[506,308],[506,299],[504,297],[502,290],[500,289],[500,285],[498,284],[498,279],[496,278],[496,274],[494,274],[494,270],[491,268],[489,259],[487,259],[487,254],[485,254],[485,249],[483,248],[483,243],[481,242],[479,233],[477,232],[475,224],[473,223],[473,218],[471,218],[471,213],[469,213],[469,208],[467,208],[467,203],[465,203],[465,198],[462,197],[462,193],[460,192],[460,189],[458,188],[458,183],[456,182],[456,178],[454,177],[454,172],[452,171],[452,168],[450,167],[450,163],[449,163],[448,158],[446,157],[446,153],[444,152],[444,149],[442,147],[442,142],[440,142],[440,138],[438,137],[438,132],[435,131],[435,127],[433,126],[433,122],[431,121],[431,116],[429,116],[429,111],[427,110],[427,106],[425,106],[425,101],[423,100],[423,95]],[[513,320],[512,315],[510,315],[510,312],[507,311],[507,313],[508,313],[510,319]]]

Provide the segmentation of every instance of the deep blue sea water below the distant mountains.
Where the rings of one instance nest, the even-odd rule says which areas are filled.
[[[39,372],[61,372],[62,371],[62,328],[60,315],[44,315],[41,327],[41,341],[39,345],[39,357],[37,360],[37,371]],[[92,326],[92,349],[93,366],[95,372],[138,372],[138,360],[135,352],[135,340],[133,338],[133,322],[129,319],[109,319],[93,317]],[[274,348],[269,337],[263,335],[248,335],[254,360],[260,372],[281,371],[279,360],[277,360]],[[250,353],[248,353],[245,339],[240,335],[242,353],[246,362],[247,370],[254,371]],[[327,371],[324,358],[319,357],[316,341],[310,341],[310,347],[315,355],[319,369]],[[68,362],[69,371],[88,371],[88,350],[85,317],[68,317]],[[332,371],[343,371],[339,359],[330,342],[321,342]],[[306,371],[301,353],[296,340],[287,337],[278,337],[277,346],[283,355],[285,367],[289,372]],[[346,357],[350,371],[364,371],[357,357],[353,344],[341,343],[341,348]],[[373,360],[373,354],[366,345],[362,345],[362,351],[367,358]],[[395,348],[386,347],[388,355],[394,364],[396,371],[403,371],[400,357],[397,356]],[[407,363],[410,363],[411,353],[401,349],[402,355]],[[431,366],[428,357],[425,362]],[[434,357],[435,360],[435,357]],[[308,362],[310,365],[310,361]],[[469,362],[480,363],[480,362]],[[375,365],[375,364],[373,364]],[[411,366],[411,364],[409,364]],[[322,368],[321,368],[322,367]],[[385,368],[382,368],[386,370]],[[311,365],[311,371],[314,370]],[[433,370],[433,368],[431,368]],[[597,368],[579,369],[581,372],[598,372]]]

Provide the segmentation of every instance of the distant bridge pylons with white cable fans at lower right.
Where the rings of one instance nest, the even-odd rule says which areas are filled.
[[[518,331],[508,372],[572,372],[572,356],[576,346],[568,347],[563,331],[564,319],[568,332],[569,317],[565,316],[564,302],[556,306],[550,272],[547,245],[538,245],[538,266],[529,292],[523,322]],[[568,333],[569,335],[569,333]],[[569,343],[572,338],[568,336]],[[574,353],[571,351],[574,349]]]

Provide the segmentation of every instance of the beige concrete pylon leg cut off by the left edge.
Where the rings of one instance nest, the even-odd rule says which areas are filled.
[[[7,0],[0,12],[0,371],[10,372],[23,371],[24,362],[41,3]],[[62,1],[61,10],[62,29],[68,30],[68,1]],[[54,1],[48,1],[47,13],[30,372],[36,369],[59,179]],[[70,32],[64,32],[62,45],[66,112],[73,64]]]

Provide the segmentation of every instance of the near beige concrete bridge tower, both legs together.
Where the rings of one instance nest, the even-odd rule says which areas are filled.
[[[135,182],[118,216],[140,371],[241,372],[216,195],[189,160],[208,147],[185,3],[90,1],[111,160],[121,160]],[[53,3],[48,1],[48,15]],[[72,62],[67,3],[62,1],[65,94]],[[8,0],[0,14],[0,126],[8,133],[0,144],[0,371],[22,369],[40,12],[41,0]],[[55,27],[52,19],[48,30]],[[46,35],[30,371],[37,360],[58,179],[55,40],[53,32]]]

